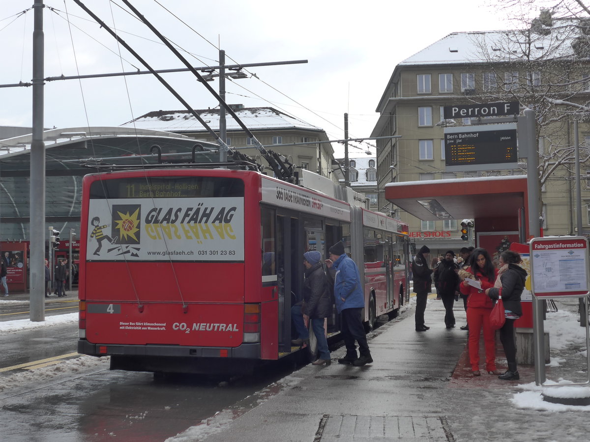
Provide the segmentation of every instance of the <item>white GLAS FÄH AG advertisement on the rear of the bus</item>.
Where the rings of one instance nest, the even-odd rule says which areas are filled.
[[[89,261],[244,260],[244,199],[91,199]]]

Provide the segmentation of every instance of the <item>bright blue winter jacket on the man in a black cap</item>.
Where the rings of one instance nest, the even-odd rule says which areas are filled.
[[[345,253],[336,259],[329,270],[334,281],[334,298],[338,312],[347,308],[363,308],[365,295],[355,262]]]

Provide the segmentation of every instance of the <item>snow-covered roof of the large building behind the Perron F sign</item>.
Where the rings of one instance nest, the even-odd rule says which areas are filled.
[[[572,43],[579,37],[577,24],[555,20],[548,35],[519,29],[504,31],[453,32],[417,52],[399,65],[464,64],[517,61],[523,54],[530,60],[571,57]]]

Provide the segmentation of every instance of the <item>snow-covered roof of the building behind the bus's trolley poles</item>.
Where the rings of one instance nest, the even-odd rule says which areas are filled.
[[[196,110],[195,112],[213,130],[219,130],[219,109]],[[250,128],[303,128],[306,130],[323,130],[320,127],[306,123],[299,118],[292,117],[272,107],[246,107],[234,109],[235,114],[242,122]],[[135,120],[122,124],[123,127],[140,127],[153,130],[165,131],[204,131],[205,127],[188,110],[176,111],[152,111]],[[241,130],[237,121],[230,114],[226,113],[227,130]]]

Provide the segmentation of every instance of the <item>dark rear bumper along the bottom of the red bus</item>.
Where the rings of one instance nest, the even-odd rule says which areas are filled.
[[[100,347],[106,347],[106,353],[101,353]],[[110,356],[110,370],[126,371],[240,374],[253,370],[260,362],[260,344],[211,348],[178,345],[104,345],[80,339],[78,353],[97,357]]]

